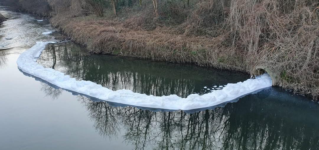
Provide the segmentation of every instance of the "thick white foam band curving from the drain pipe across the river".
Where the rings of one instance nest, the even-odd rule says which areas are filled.
[[[215,106],[226,101],[234,100],[241,95],[246,95],[258,89],[271,86],[271,77],[268,74],[263,74],[257,76],[256,79],[248,79],[238,83],[228,83],[226,87],[221,90],[215,90],[204,95],[191,94],[187,98],[181,98],[177,95],[145,95],[134,93],[126,89],[113,91],[91,81],[77,81],[75,78],[64,75],[62,72],[52,68],[44,68],[39,65],[36,60],[48,43],[53,42],[37,42],[31,49],[23,52],[17,60],[18,67],[22,71],[39,77],[60,88],[105,101],[148,108],[190,110]]]

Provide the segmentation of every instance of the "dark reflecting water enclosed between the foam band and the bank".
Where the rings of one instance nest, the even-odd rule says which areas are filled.
[[[110,55],[89,55],[73,43],[52,44],[38,62],[78,80],[89,80],[112,90],[130,89],[147,95],[204,94],[214,85],[247,80],[239,72],[211,70],[193,65],[152,62]],[[206,91],[205,91],[206,90]]]

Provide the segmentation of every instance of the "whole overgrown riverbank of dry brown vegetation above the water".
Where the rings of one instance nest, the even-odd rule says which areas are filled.
[[[91,53],[260,68],[274,74],[273,85],[319,96],[319,11],[311,0],[159,2],[155,13],[154,3],[125,3],[116,15],[107,6],[97,15],[83,3],[48,4],[52,24]]]

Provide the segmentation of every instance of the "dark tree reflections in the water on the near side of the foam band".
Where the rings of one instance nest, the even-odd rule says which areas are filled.
[[[121,135],[135,149],[317,149],[319,107],[310,101],[248,95],[224,108],[193,114],[112,107],[79,96],[95,129],[111,139]],[[282,94],[283,95],[283,94]],[[296,105],[298,104],[298,105]],[[292,112],[293,110],[293,112]]]

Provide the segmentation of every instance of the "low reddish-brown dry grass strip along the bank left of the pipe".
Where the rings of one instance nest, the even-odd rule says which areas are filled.
[[[93,53],[121,54],[170,62],[188,62],[215,68],[242,70],[239,51],[223,46],[226,36],[206,38],[125,28],[125,22],[77,20],[65,23],[54,18],[64,32],[76,42],[85,44]],[[223,63],[220,63],[223,62]]]

